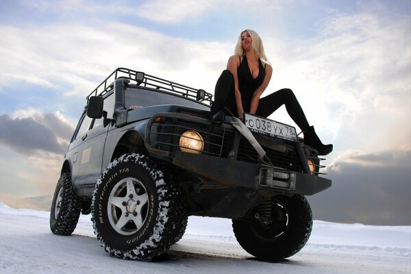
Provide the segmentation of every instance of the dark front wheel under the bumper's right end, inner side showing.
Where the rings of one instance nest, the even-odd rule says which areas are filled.
[[[266,212],[271,217],[262,220],[260,216],[267,216]],[[260,260],[284,260],[300,251],[310,238],[312,212],[301,195],[273,197],[251,215],[249,219],[233,220],[233,230],[241,247]]]

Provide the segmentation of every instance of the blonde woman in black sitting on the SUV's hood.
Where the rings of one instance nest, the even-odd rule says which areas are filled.
[[[273,68],[268,64],[260,36],[251,29],[241,32],[234,55],[227,62],[227,69],[221,73],[214,92],[211,107],[213,118],[219,112],[229,110],[242,119],[244,112],[267,117],[280,106],[285,105],[291,119],[304,133],[304,142],[327,155],[333,145],[323,145],[306,119],[294,92],[283,88],[260,98],[269,85]]]

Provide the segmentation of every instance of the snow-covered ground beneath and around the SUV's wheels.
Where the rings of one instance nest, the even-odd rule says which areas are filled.
[[[72,236],[55,236],[49,212],[0,202],[0,273],[411,273],[411,227],[314,221],[299,253],[260,262],[236,242],[231,221],[190,217],[186,234],[153,262],[110,258],[81,216]]]

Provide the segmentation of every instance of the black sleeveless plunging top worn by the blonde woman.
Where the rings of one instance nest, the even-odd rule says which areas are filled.
[[[240,65],[237,68],[238,76],[238,89],[241,93],[242,108],[245,112],[249,112],[251,98],[253,97],[254,91],[261,86],[264,81],[265,68],[262,66],[262,62],[258,60],[258,76],[253,79],[251,71],[248,66],[247,57],[243,55],[242,62],[240,59]]]

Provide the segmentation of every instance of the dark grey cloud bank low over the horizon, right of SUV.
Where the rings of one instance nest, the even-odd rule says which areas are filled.
[[[327,168],[332,186],[309,197],[316,218],[329,221],[410,223],[411,151],[347,151]]]

